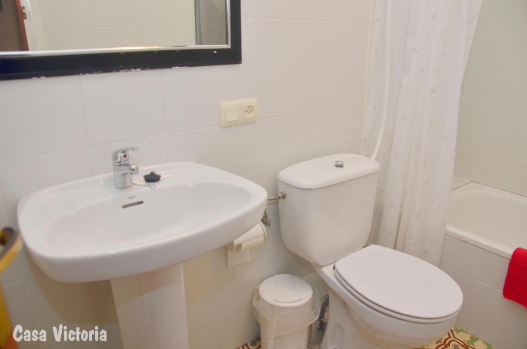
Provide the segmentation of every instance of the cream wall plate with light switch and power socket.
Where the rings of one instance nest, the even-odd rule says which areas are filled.
[[[258,99],[238,99],[220,103],[220,125],[223,127],[247,124],[258,119]]]

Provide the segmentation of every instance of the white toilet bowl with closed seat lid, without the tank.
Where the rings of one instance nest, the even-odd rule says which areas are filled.
[[[315,270],[330,287],[321,349],[422,347],[454,326],[463,303],[460,287],[439,268],[377,245]]]

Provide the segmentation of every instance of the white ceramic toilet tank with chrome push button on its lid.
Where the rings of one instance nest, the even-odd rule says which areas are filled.
[[[279,203],[286,247],[319,266],[364,247],[372,226],[379,167],[364,156],[336,154],[283,169],[278,190],[287,195]]]

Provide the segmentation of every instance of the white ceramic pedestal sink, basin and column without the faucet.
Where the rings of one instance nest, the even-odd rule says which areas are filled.
[[[161,175],[155,187],[142,175]],[[134,185],[83,178],[24,196],[18,224],[45,274],[111,280],[124,349],[189,347],[182,262],[224,246],[264,214],[267,193],[220,169],[175,162],[142,168]]]

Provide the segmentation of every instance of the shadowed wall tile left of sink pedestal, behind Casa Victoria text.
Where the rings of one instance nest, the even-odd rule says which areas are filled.
[[[107,281],[96,283],[60,283],[45,275],[23,281],[24,294],[34,328],[42,328],[52,335],[52,327],[63,324],[86,330],[99,326],[108,332],[106,342],[57,343],[54,340],[40,342],[41,349],[79,348],[106,349],[121,341],[112,290]]]

